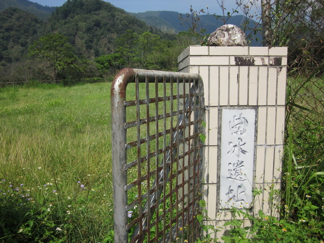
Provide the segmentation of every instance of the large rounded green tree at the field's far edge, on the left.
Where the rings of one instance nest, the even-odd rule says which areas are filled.
[[[29,47],[29,56],[48,63],[55,80],[75,77],[81,70],[76,64],[77,56],[73,53],[72,45],[62,34],[47,34]]]

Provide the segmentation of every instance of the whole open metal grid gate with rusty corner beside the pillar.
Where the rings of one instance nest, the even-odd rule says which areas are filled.
[[[113,80],[111,109],[115,242],[194,242],[203,169],[201,77],[125,68]]]

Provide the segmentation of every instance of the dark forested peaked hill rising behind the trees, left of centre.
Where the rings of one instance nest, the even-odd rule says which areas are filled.
[[[102,0],[67,1],[47,22],[48,32],[67,36],[76,54],[90,59],[112,53],[116,39],[128,30],[167,35]]]

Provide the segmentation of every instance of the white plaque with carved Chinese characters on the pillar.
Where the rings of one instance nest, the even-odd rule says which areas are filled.
[[[251,204],[254,165],[255,110],[223,109],[221,129],[220,204]]]

